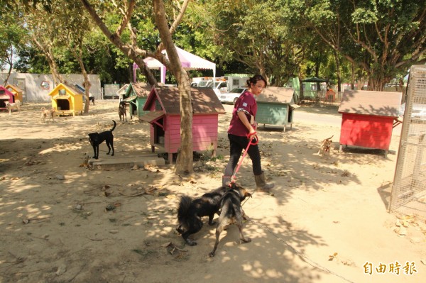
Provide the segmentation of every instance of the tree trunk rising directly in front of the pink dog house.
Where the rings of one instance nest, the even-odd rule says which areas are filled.
[[[170,67],[178,81],[180,102],[180,152],[176,160],[176,172],[192,174],[193,148],[192,148],[192,97],[190,90],[190,77],[183,69],[178,51],[170,34],[165,8],[162,0],[153,0],[155,23],[160,33],[161,43],[165,46]]]

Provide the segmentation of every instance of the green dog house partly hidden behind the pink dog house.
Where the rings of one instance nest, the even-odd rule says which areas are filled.
[[[148,99],[148,95],[151,91],[149,84],[138,82],[131,83],[127,87],[126,94],[124,94],[124,101],[129,104],[130,118],[133,116],[141,117],[143,114],[149,111],[143,111],[143,105]]]

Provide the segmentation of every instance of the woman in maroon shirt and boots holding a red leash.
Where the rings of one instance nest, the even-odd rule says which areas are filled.
[[[266,79],[260,74],[256,74],[247,80],[247,90],[239,96],[232,111],[231,123],[228,128],[229,138],[229,162],[226,165],[224,176],[222,177],[222,185],[226,186],[231,182],[231,176],[234,174],[236,165],[243,149],[247,148],[250,138],[256,135],[255,121],[257,112],[257,103],[254,96],[261,94],[266,87]],[[247,151],[253,164],[254,180],[258,190],[269,192],[274,184],[266,184],[265,174],[261,166],[261,154],[258,145],[250,145]]]

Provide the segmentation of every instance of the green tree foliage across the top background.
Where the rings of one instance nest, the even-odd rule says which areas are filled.
[[[119,9],[111,1],[90,2],[114,32],[121,21]],[[89,72],[100,74],[102,82],[131,81],[133,62],[87,20],[80,0],[12,0],[6,4],[0,15],[0,56],[10,54],[11,43],[16,48],[25,46],[18,48],[18,70],[48,70],[43,52],[28,40],[37,34],[52,46],[60,72],[79,72],[69,46],[82,44],[84,65]],[[179,4],[167,1],[165,5],[172,23]],[[343,79],[368,75],[372,87],[380,88],[413,63],[425,60],[425,9],[424,1],[410,0],[191,1],[173,39],[180,48],[216,62],[218,75],[262,72],[273,85],[283,85],[297,75],[319,75],[337,82],[333,53],[337,50]],[[8,18],[5,15],[10,11],[19,13]],[[26,16],[26,26],[18,15]],[[151,4],[138,1],[131,26],[137,31],[139,48],[154,50],[160,43]],[[121,40],[129,42],[130,36],[125,28]],[[212,71],[190,74],[210,76]]]

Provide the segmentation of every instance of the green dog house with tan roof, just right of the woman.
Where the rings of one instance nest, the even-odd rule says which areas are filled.
[[[267,125],[292,127],[293,110],[297,96],[294,89],[285,87],[267,87],[257,96],[257,123]]]

